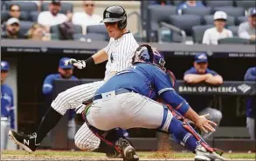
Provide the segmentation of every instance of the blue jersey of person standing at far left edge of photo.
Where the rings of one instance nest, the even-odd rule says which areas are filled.
[[[1,84],[1,117],[10,117],[10,128],[14,129],[13,94],[8,84]]]

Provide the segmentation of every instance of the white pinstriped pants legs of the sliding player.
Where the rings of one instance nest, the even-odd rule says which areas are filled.
[[[83,101],[93,98],[95,91],[104,83],[104,81],[97,81],[90,84],[81,84],[63,91],[52,101],[51,106],[61,115],[65,115],[67,110],[74,109],[81,105]],[[74,142],[81,150],[93,151],[99,147],[100,138],[97,138],[85,123],[76,132]]]

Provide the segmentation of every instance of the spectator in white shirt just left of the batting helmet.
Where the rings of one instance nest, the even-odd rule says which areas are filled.
[[[73,23],[79,24],[86,30],[86,26],[99,24],[102,20],[100,15],[94,14],[95,3],[93,1],[84,1],[84,12],[76,12],[73,14]],[[103,24],[103,23],[102,23]]]

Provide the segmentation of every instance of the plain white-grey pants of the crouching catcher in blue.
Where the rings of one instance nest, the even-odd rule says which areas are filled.
[[[163,104],[135,92],[119,95],[109,93],[103,93],[103,98],[93,101],[86,115],[89,124],[101,131],[116,127],[157,129],[163,124],[161,129],[168,131],[173,116],[167,111],[166,121],[163,122],[164,108],[167,108]]]

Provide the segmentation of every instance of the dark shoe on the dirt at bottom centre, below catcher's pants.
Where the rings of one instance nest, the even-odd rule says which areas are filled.
[[[122,153],[123,153],[123,160],[124,161],[138,161],[139,156],[135,153],[135,148],[129,144],[128,140],[124,138],[119,138],[116,143],[116,146],[118,146]]]

